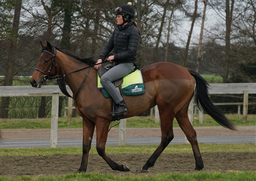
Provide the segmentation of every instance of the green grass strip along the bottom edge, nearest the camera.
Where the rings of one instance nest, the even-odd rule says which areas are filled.
[[[30,177],[21,176],[20,178],[0,177],[0,181],[256,181],[255,172],[198,172],[198,173],[171,173],[147,176],[145,174],[136,176],[117,176],[112,174],[94,173],[75,173],[64,176]]]

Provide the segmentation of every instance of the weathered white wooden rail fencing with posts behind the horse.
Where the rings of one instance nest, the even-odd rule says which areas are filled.
[[[72,93],[70,88],[66,86],[67,91]],[[232,105],[243,105],[243,120],[247,120],[249,94],[256,94],[256,83],[234,83],[234,84],[210,84],[209,94],[244,94],[244,102],[233,102]],[[59,96],[65,96],[61,93],[57,85],[46,85],[42,88],[36,89],[31,86],[0,86],[1,96],[52,96],[51,108],[51,147],[57,147],[57,127],[58,127],[58,107]],[[223,103],[215,103],[220,105]],[[188,116],[191,124],[193,124],[193,106],[191,101],[188,110]],[[155,122],[159,123],[158,108],[155,108]],[[239,110],[239,107],[238,107]],[[240,110],[239,110],[240,112]],[[72,114],[72,99],[69,101],[68,118]],[[202,113],[199,112],[199,119],[202,118]],[[69,118],[70,119],[70,118]],[[68,119],[68,120],[69,120]],[[201,120],[200,120],[201,121]],[[119,145],[125,144],[126,135],[126,119],[122,120],[119,127]],[[186,142],[186,141],[185,141]]]

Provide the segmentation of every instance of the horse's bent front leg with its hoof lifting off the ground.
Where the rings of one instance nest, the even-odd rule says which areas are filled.
[[[119,170],[123,172],[129,172],[130,169],[126,165],[119,165],[112,161],[105,152],[105,145],[108,137],[108,126],[110,124],[109,120],[101,118],[96,121],[96,149],[99,154],[111,167],[113,170]]]

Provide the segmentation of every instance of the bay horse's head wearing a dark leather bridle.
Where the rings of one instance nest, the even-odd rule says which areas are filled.
[[[41,88],[42,84],[48,81],[49,77],[58,74],[59,66],[55,61],[56,49],[47,41],[47,46],[42,44],[42,54],[37,60],[36,70],[30,79],[30,84],[34,88]]]

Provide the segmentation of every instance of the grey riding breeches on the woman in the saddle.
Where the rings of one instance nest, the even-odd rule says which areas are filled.
[[[100,83],[105,88],[105,90],[109,93],[109,95],[112,97],[114,102],[118,104],[123,100],[123,97],[117,91],[117,89],[112,84],[112,82],[122,77],[125,77],[129,73],[133,72],[134,64],[133,63],[123,63],[118,65],[109,64],[109,66],[111,67],[113,66],[113,67],[110,70],[108,70],[105,74],[103,74],[103,76],[100,78]]]

